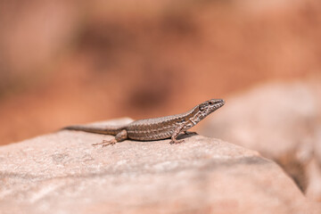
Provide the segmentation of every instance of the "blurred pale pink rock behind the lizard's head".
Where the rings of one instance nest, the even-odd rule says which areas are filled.
[[[278,162],[321,202],[320,82],[269,83],[226,100],[200,133],[256,150]]]

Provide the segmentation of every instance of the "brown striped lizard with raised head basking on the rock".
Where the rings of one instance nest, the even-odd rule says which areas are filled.
[[[189,128],[195,126],[202,119],[206,118],[213,111],[218,110],[224,104],[224,100],[210,99],[209,101],[196,105],[192,110],[186,111],[185,113],[161,118],[138,119],[124,126],[94,128],[86,125],[76,125],[62,129],[115,136],[111,140],[103,140],[102,143],[98,143],[103,146],[116,144],[126,139],[150,141],[171,138],[170,144],[179,144],[184,141],[177,140],[177,136],[180,133],[184,132],[188,135],[190,133],[187,131]]]

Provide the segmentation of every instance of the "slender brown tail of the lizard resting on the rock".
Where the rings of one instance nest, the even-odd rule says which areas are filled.
[[[75,125],[70,127],[65,127],[62,129],[75,130],[75,131],[85,131],[96,134],[111,135],[116,136],[121,130],[125,129],[125,126],[122,127],[95,127],[93,125]]]

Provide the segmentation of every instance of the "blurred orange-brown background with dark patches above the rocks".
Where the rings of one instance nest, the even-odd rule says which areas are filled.
[[[321,2],[0,1],[0,144],[318,77]]]

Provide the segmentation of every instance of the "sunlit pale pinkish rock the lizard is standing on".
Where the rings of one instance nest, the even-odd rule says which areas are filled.
[[[258,152],[204,136],[91,145],[110,137],[63,130],[0,147],[1,213],[320,211]]]

